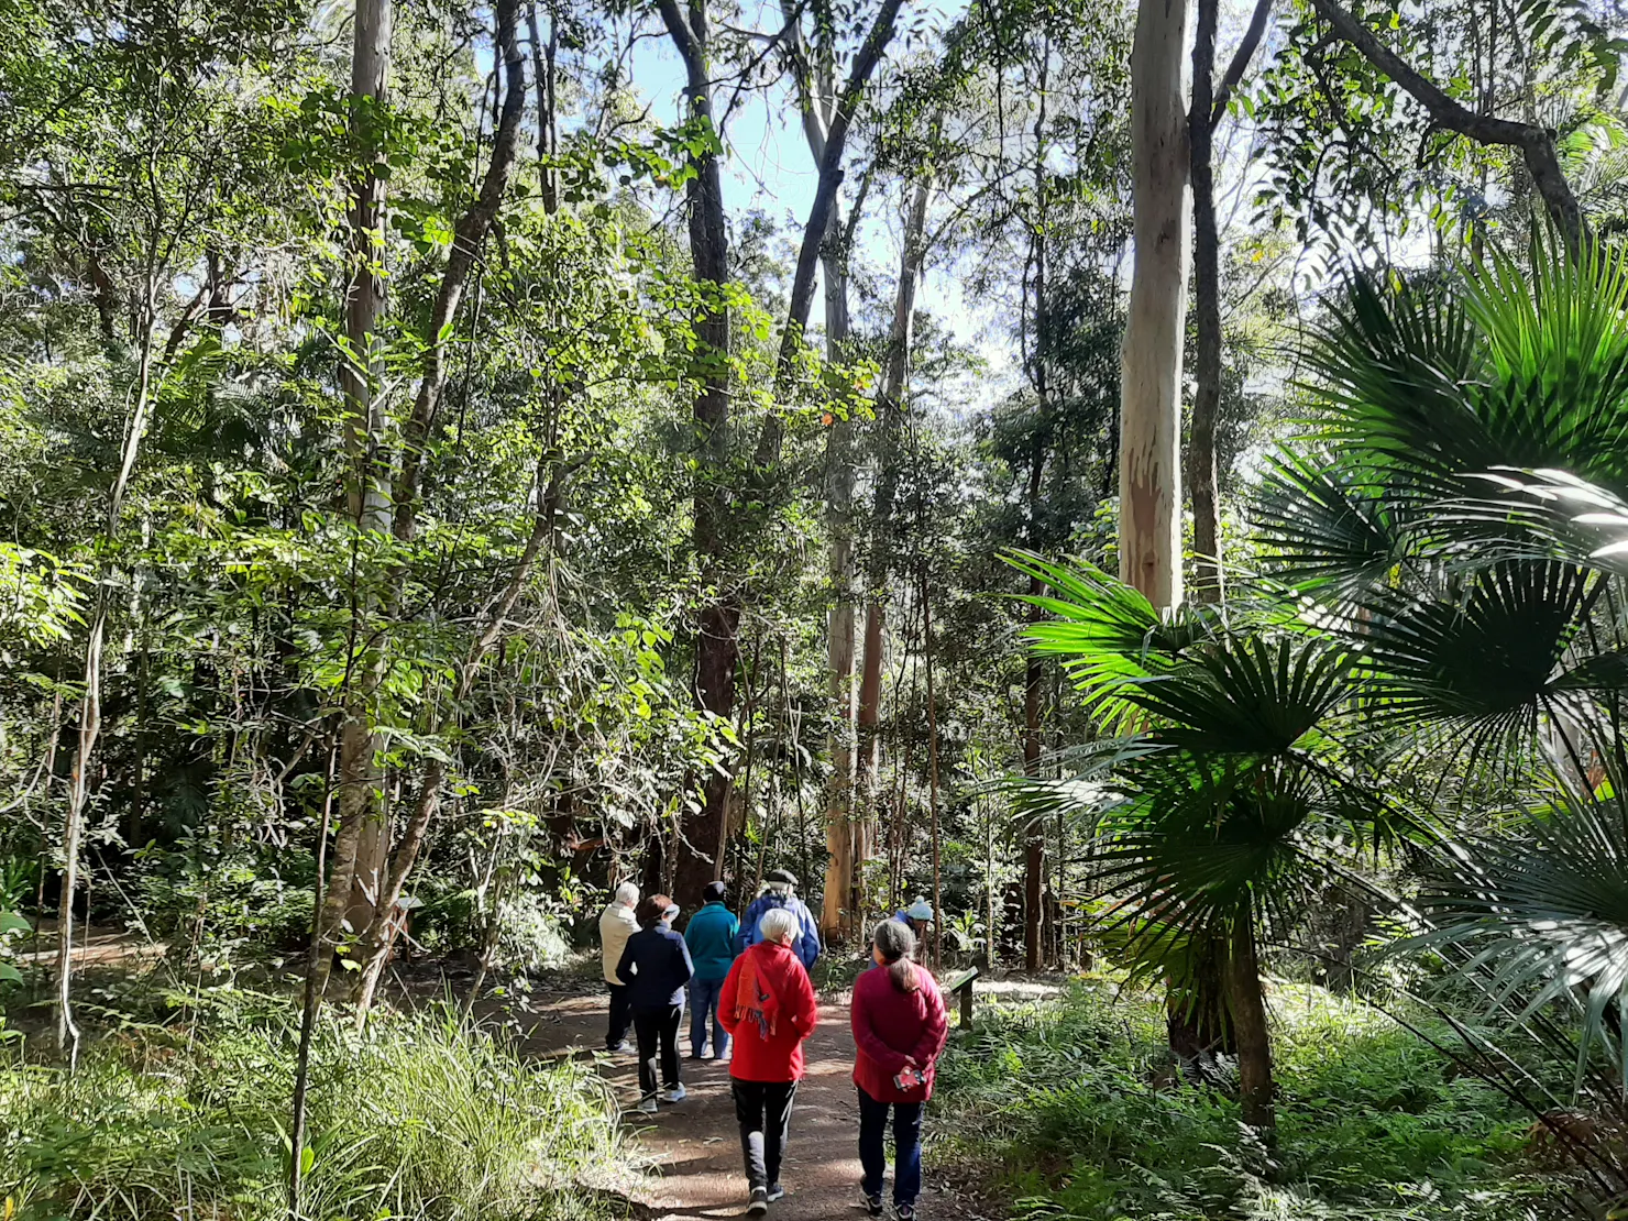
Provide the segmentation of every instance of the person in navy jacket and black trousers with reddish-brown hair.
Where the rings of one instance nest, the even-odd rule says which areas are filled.
[[[656,1110],[656,1065],[659,1057],[661,1097],[684,1101],[679,1078],[679,1026],[684,1021],[684,991],[695,974],[684,938],[672,931],[667,910],[672,900],[653,894],[638,905],[640,931],[627,939],[617,978],[627,985],[638,1039],[638,1109]]]

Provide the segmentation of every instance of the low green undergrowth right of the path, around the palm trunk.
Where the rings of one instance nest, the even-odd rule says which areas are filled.
[[[1221,1092],[1174,1086],[1146,998],[1081,985],[988,1009],[939,1071],[939,1162],[991,1164],[1019,1213],[1081,1221],[1537,1221],[1530,1118],[1382,1014],[1275,998],[1278,1146]]]

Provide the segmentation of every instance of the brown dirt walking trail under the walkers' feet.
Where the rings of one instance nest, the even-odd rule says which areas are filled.
[[[604,1047],[606,1001],[573,996],[544,1004],[526,1039],[532,1055],[591,1057]],[[689,1013],[679,1040],[684,1088],[689,1097],[661,1104],[656,1115],[632,1110],[638,1101],[638,1066],[624,1055],[601,1061],[601,1073],[628,1109],[624,1117],[635,1151],[648,1169],[622,1188],[646,1221],[716,1221],[746,1213],[746,1175],[741,1169],[741,1130],[729,1097],[729,1068],[689,1058]],[[791,1141],[781,1182],[786,1198],[773,1205],[770,1221],[848,1221],[863,1218],[860,1201],[860,1107],[853,1091],[853,1035],[848,1006],[822,1003],[819,1026],[807,1042],[807,1076],[798,1088]],[[918,1201],[923,1221],[991,1221],[996,1211],[978,1205],[946,1180],[933,1158],[933,1110],[928,1107],[926,1182]],[[889,1161],[892,1143],[889,1141]],[[892,1190],[892,1167],[887,1172]]]

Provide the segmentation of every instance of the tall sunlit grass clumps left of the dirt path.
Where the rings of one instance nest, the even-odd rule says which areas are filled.
[[[283,1219],[298,1029],[288,1006],[111,1035],[68,1074],[0,1070],[0,1214]],[[570,1061],[519,1060],[451,1011],[327,1021],[314,1042],[303,1214],[404,1221],[593,1216],[614,1105]]]

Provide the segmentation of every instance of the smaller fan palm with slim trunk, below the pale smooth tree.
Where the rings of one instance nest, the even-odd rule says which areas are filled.
[[[1304,899],[1392,834],[1389,811],[1345,765],[1340,731],[1356,654],[1262,604],[1187,606],[1161,615],[1133,588],[1086,565],[1011,562],[1052,593],[1031,646],[1063,659],[1096,715],[1131,746],[1114,765],[1115,801],[1088,790],[1112,902],[1109,928],[1143,969],[1177,975],[1188,947],[1218,946],[1245,1120],[1270,1128],[1271,1048],[1260,936],[1293,923]],[[1031,806],[1076,804],[1079,778],[1017,781]]]

